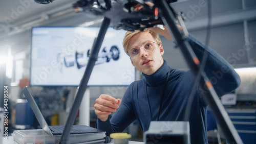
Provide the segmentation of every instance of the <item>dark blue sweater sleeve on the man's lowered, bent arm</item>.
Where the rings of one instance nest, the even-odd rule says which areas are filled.
[[[131,85],[125,91],[120,107],[113,114],[113,116],[108,118],[108,120],[105,122],[97,119],[96,128],[105,131],[107,136],[109,136],[111,133],[122,132],[136,119],[132,106],[131,92],[129,90]]]

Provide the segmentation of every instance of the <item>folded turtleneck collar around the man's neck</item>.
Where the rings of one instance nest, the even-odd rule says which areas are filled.
[[[145,77],[147,84],[150,86],[156,86],[163,83],[166,79],[167,73],[171,68],[167,65],[166,61],[164,60],[163,65],[152,75],[142,75]]]

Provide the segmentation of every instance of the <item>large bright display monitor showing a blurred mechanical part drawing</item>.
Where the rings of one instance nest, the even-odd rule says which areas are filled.
[[[100,27],[34,27],[31,86],[78,86]],[[89,86],[130,85],[135,67],[123,51],[126,31],[109,28],[89,79]]]

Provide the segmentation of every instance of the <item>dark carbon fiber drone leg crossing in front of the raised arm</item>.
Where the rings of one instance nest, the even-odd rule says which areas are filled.
[[[159,9],[162,11],[161,15],[164,24],[169,27],[168,30],[172,32],[189,68],[191,69],[193,75],[196,77],[199,71],[199,66],[195,64],[193,60],[194,58],[196,58],[196,55],[191,49],[189,43],[183,39],[181,33],[179,32],[176,23],[174,22],[175,16],[170,10],[171,8],[169,7],[169,4],[167,4],[165,0],[160,0],[155,1],[155,5],[159,7]],[[208,78],[202,73],[199,85],[201,87],[204,87],[207,81]],[[226,110],[224,109],[223,105],[218,101],[219,98],[214,88],[209,87],[205,90],[207,92],[205,93],[205,97],[203,98],[211,107],[211,110],[214,113],[229,143],[243,143],[237,130],[234,128],[230,118],[228,117]]]

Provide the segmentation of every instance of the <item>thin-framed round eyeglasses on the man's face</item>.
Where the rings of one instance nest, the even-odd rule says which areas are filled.
[[[143,46],[143,49],[146,52],[152,52],[155,48],[155,42],[153,41],[146,41],[143,45],[140,45],[139,47],[133,47],[129,52],[129,56],[131,58],[137,58],[140,54],[140,47]]]

